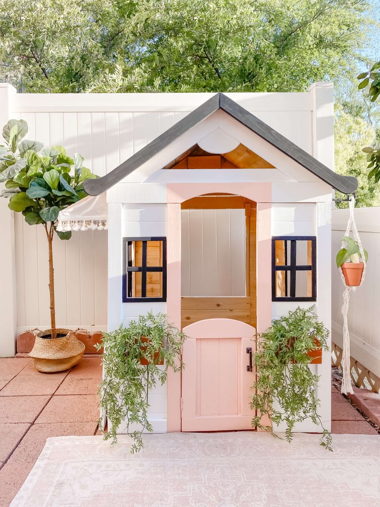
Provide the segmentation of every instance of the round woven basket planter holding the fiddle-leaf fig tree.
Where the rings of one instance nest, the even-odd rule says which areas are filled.
[[[35,368],[39,372],[53,373],[77,365],[83,357],[85,344],[75,338],[75,331],[69,329],[56,329],[58,338],[42,338],[50,335],[51,331],[48,329],[35,335],[34,346],[29,353]]]

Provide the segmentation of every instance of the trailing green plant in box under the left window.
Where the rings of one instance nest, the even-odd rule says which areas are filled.
[[[146,338],[146,340],[145,340]],[[104,440],[117,442],[117,429],[127,424],[127,433],[134,443],[131,453],[142,447],[142,430],[153,431],[148,420],[149,390],[158,383],[164,384],[167,370],[182,370],[182,345],[185,335],[167,321],[167,315],[140,315],[128,327],[123,325],[111,333],[103,334],[103,343],[98,344],[103,353],[103,380],[99,386],[100,407],[109,422]],[[148,365],[141,364],[146,359]],[[164,367],[159,367],[162,361]],[[99,424],[103,418],[100,418]],[[139,429],[131,429],[138,425]]]

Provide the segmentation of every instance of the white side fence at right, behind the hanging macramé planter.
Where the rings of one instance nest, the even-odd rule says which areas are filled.
[[[339,347],[343,342],[344,285],[336,268],[335,256],[340,249],[348,209],[332,211],[332,341]],[[368,251],[368,265],[363,285],[352,289],[350,296],[349,329],[351,356],[380,377],[380,270],[376,268],[380,251],[380,207],[355,209],[355,221],[363,247]]]

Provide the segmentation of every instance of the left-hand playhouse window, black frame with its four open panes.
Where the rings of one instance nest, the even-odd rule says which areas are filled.
[[[166,238],[123,238],[123,303],[166,301]]]

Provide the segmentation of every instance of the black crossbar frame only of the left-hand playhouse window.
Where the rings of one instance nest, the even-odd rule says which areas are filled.
[[[128,258],[129,247],[133,241],[142,241],[142,266],[132,266],[132,260]],[[146,266],[147,241],[162,241],[162,266]],[[123,237],[123,303],[153,303],[155,301],[166,301],[166,267],[167,267],[167,247],[165,236],[151,237]],[[141,297],[128,296],[129,288],[132,283],[132,273],[141,273]],[[162,273],[162,297],[146,297],[146,273]],[[128,284],[129,278],[129,284]],[[143,294],[145,293],[145,296]]]

